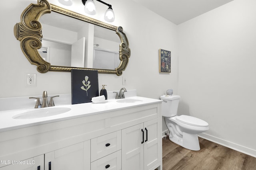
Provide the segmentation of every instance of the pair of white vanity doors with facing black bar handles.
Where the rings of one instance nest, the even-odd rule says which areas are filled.
[[[162,162],[160,118],[122,130],[122,168],[155,169]]]

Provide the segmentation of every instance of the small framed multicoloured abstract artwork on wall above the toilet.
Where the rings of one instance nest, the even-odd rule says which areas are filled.
[[[171,52],[159,49],[159,72],[171,72]]]

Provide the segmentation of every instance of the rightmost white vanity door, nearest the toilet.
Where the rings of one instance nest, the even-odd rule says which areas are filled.
[[[162,159],[160,118],[144,122],[144,170],[149,170]]]

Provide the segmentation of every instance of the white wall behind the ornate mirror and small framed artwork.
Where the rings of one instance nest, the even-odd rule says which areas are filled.
[[[61,6],[57,0],[50,0],[52,4]],[[83,5],[76,0],[72,10],[83,12]],[[16,40],[13,27],[20,22],[22,11],[36,0],[6,1],[0,6],[0,22],[3,32],[0,40],[0,98],[37,96],[44,90],[48,94],[71,93],[70,72],[39,73],[36,66],[28,62],[20,49],[20,41]],[[128,84],[126,89],[136,89],[139,96],[159,98],[167,89],[178,90],[178,47],[177,25],[170,23],[162,17],[141,8],[133,1],[109,0],[115,12],[116,20],[112,25],[121,25],[126,33],[131,49],[128,67],[122,76],[126,76]],[[96,2],[97,14],[95,19],[103,20],[106,6]],[[65,7],[68,8],[68,7]],[[132,9],[132,12],[130,11]],[[8,16],[8,18],[6,18]],[[172,51],[172,73],[160,74],[158,72],[158,49]],[[25,86],[25,74],[37,74],[37,86]],[[122,76],[114,74],[99,74],[99,86],[107,84],[106,89],[119,90],[123,87]],[[28,99],[29,100],[29,99]]]

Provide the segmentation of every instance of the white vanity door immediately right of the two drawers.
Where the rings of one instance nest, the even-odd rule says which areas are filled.
[[[143,123],[122,129],[122,170],[143,170]]]

